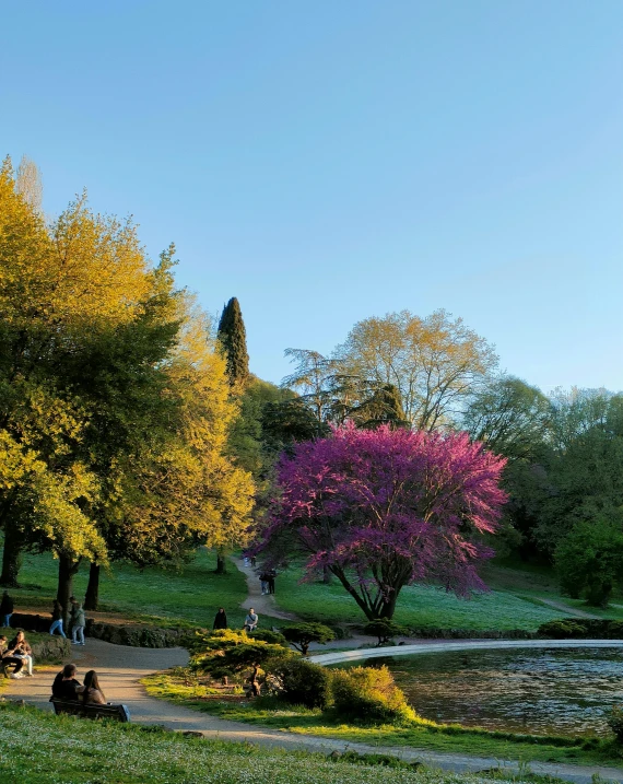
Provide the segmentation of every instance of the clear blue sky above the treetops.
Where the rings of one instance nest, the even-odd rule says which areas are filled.
[[[7,3],[0,154],[83,187],[251,370],[445,308],[545,390],[623,389],[621,0]]]

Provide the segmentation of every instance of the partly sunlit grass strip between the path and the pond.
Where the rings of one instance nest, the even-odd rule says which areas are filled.
[[[418,719],[405,726],[352,726],[322,713],[277,700],[225,702],[205,699],[204,687],[186,686],[180,670],[160,672],[142,680],[152,697],[183,704],[235,722],[363,742],[377,748],[402,747],[494,757],[517,762],[565,762],[569,764],[621,765],[622,752],[613,741],[599,738],[519,735]],[[203,699],[202,699],[203,698]]]

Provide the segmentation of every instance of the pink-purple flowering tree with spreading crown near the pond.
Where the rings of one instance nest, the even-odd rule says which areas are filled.
[[[411,583],[484,589],[481,535],[497,528],[504,464],[467,433],[337,428],[282,457],[260,549],[305,553],[308,573],[330,570],[371,620],[390,619]]]

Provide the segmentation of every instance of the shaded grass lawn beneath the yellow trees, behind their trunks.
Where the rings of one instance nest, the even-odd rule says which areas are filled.
[[[102,575],[99,609],[160,625],[211,628],[216,610],[224,607],[231,625],[239,628],[245,618],[239,605],[247,597],[245,575],[232,562],[227,564],[227,574],[218,575],[215,562],[212,552],[200,548],[180,571],[141,571],[131,564],[114,564],[109,574]],[[49,612],[57,580],[58,561],[49,553],[27,554],[20,572],[24,587],[10,590],[15,611],[27,607]],[[77,596],[84,596],[87,580],[89,565],[84,564],[73,581]]]

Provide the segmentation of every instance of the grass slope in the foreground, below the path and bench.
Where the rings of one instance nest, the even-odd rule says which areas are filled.
[[[354,758],[354,756],[353,756]],[[355,762],[356,758],[353,759]],[[0,705],[0,772],[27,784],[480,784],[403,763],[366,764],[248,744],[187,738],[132,724]],[[374,761],[374,758],[369,758]],[[377,760],[380,762],[381,760]],[[497,781],[529,781],[501,772]]]

